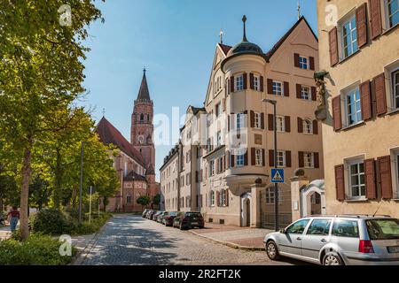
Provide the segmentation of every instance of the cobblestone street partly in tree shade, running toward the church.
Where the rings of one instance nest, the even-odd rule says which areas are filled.
[[[137,216],[112,218],[76,264],[298,264],[270,262],[262,251],[232,249]]]

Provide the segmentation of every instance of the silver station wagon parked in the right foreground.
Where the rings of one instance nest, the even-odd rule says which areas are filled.
[[[264,238],[271,260],[293,257],[314,264],[399,264],[399,220],[389,216],[301,218]]]

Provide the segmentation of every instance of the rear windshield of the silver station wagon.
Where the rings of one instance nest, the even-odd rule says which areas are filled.
[[[372,219],[366,220],[370,240],[399,239],[398,219]]]

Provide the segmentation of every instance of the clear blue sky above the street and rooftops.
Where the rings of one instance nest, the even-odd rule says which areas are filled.
[[[84,82],[90,94],[82,102],[95,108],[94,118],[110,120],[128,140],[133,102],[147,68],[154,113],[181,115],[188,105],[201,107],[215,44],[247,38],[266,52],[297,20],[297,0],[107,0],[96,1],[106,19],[90,26],[91,48]],[[301,0],[301,13],[317,34],[316,1]],[[156,170],[171,146],[156,148]],[[158,176],[157,176],[158,177]],[[157,178],[158,179],[158,178]]]

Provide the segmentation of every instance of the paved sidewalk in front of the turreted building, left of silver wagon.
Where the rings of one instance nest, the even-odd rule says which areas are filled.
[[[248,250],[264,250],[264,236],[272,232],[262,228],[225,226],[215,223],[205,223],[204,229],[189,231],[232,248]]]

